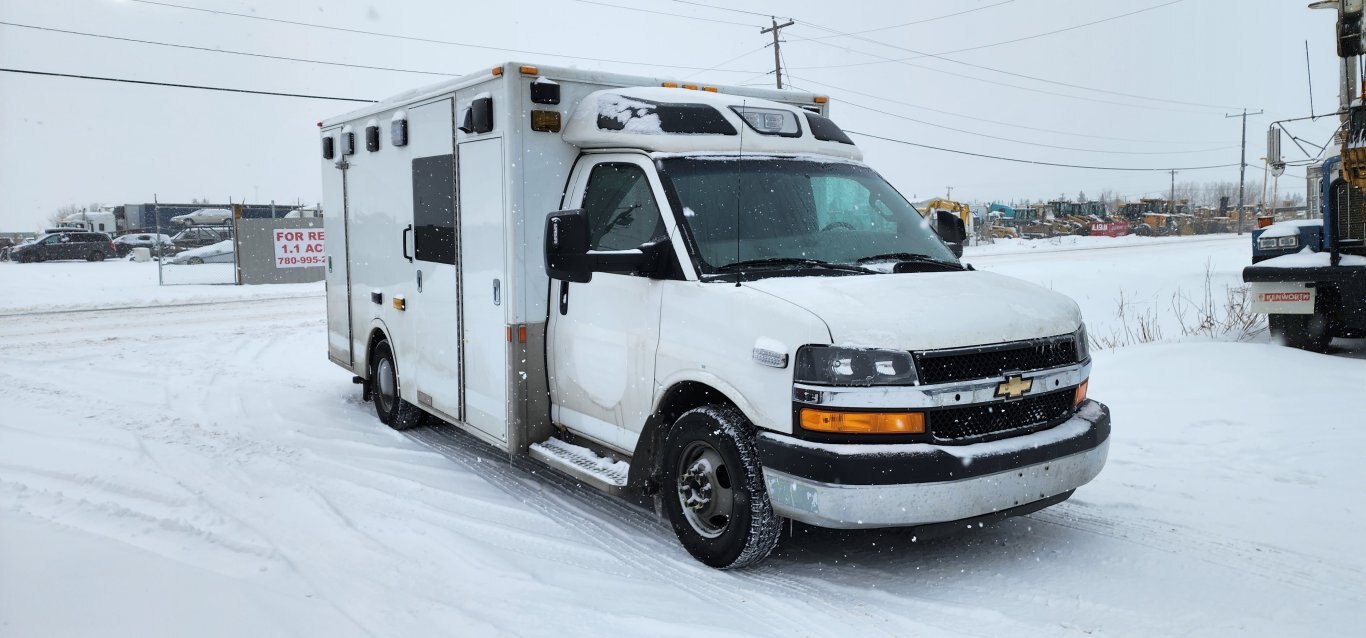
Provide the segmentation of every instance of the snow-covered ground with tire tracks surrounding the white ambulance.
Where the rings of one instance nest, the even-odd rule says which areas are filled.
[[[1169,327],[1096,352],[1105,471],[948,538],[798,529],[742,572],[533,463],[381,426],[326,361],[318,286],[0,264],[0,635],[1359,633],[1366,343],[1182,337],[1168,299],[1206,264],[1236,284],[1246,238],[1014,243],[967,261],[1078,298],[1093,333],[1121,292]]]

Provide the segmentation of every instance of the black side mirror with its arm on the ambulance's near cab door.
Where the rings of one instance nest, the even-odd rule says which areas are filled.
[[[663,276],[673,247],[660,239],[630,250],[591,250],[589,216],[583,209],[560,210],[545,219],[545,273],[550,279],[589,283],[594,272]]]

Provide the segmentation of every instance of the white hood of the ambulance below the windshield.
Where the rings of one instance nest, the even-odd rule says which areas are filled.
[[[744,286],[810,310],[836,346],[937,350],[1065,335],[1082,325],[1071,298],[981,271],[770,277]]]

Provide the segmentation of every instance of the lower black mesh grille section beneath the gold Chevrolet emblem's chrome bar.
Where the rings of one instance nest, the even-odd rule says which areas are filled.
[[[938,441],[966,443],[1015,430],[1040,429],[1068,417],[1075,407],[1075,388],[1071,388],[1015,402],[934,410],[929,413],[930,434]]]

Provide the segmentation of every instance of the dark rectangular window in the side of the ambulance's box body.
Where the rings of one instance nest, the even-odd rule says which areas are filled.
[[[413,255],[455,264],[455,156],[413,160]]]

